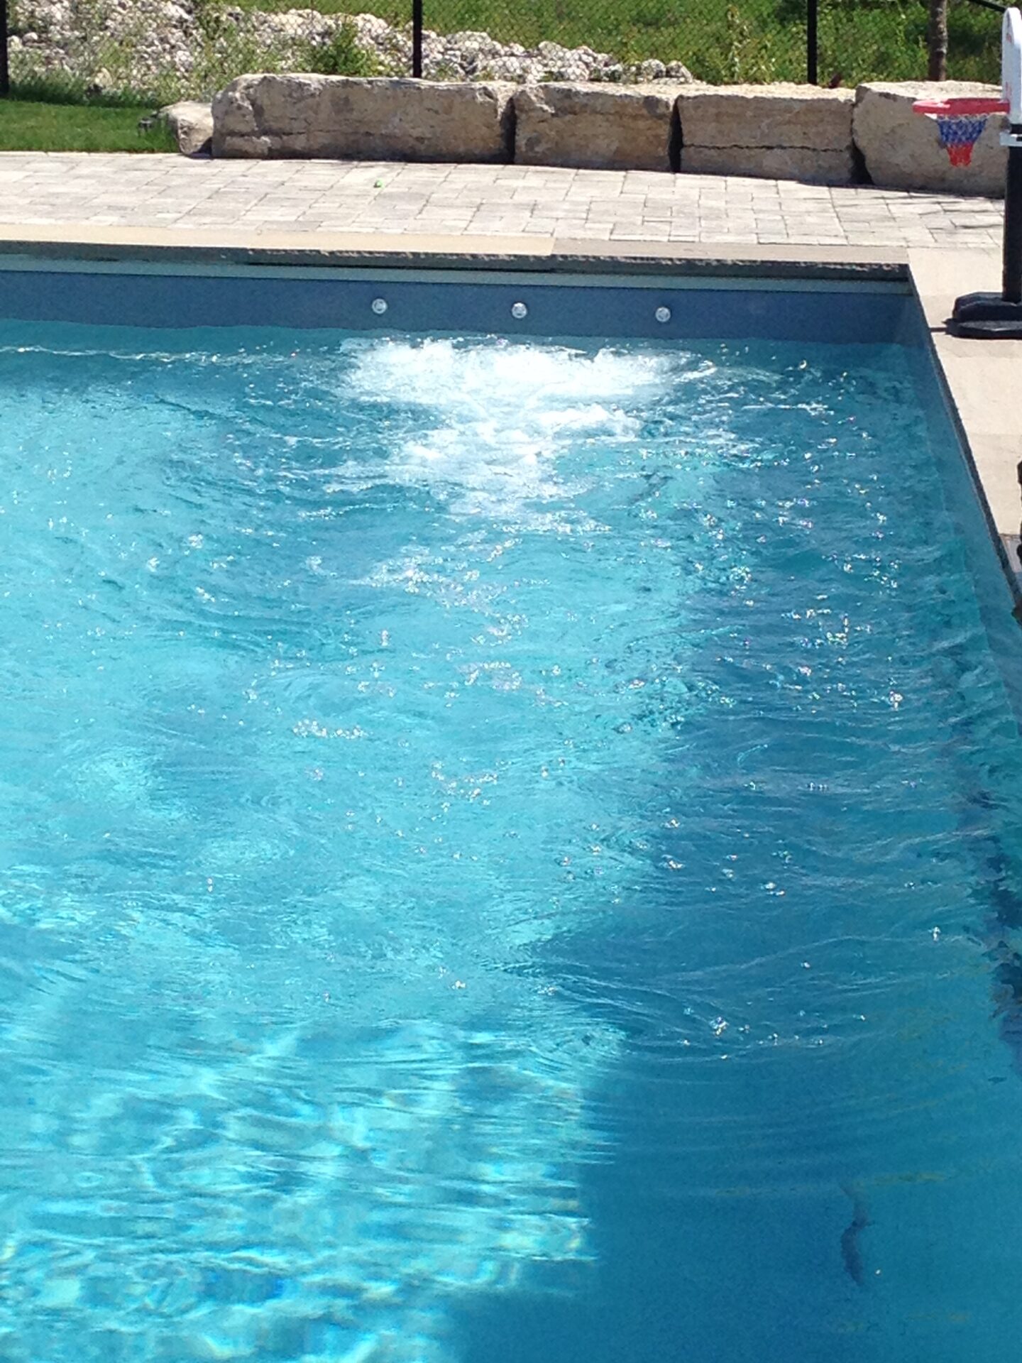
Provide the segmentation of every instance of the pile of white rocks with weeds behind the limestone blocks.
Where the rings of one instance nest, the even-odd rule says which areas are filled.
[[[361,71],[339,75],[407,75],[409,26],[371,14],[324,15],[219,7],[211,0],[15,0],[11,68],[15,80],[65,79],[97,91],[135,89],[154,98],[208,97],[249,71],[308,71],[347,26],[349,57]],[[352,48],[354,52],[352,53]],[[422,42],[424,75],[433,80],[687,82],[680,61],[624,64],[593,48],[540,42],[525,48],[488,33],[437,34]]]

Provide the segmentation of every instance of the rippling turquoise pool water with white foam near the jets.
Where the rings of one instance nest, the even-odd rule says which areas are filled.
[[[940,444],[894,346],[0,327],[0,1356],[1015,1356]]]

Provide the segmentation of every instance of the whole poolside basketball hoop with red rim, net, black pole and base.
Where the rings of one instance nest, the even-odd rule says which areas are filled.
[[[1000,99],[917,99],[916,113],[935,119],[940,146],[953,166],[967,166],[992,113],[1007,113],[1004,184],[1004,266],[1000,293],[963,293],[955,298],[948,330],[959,337],[1022,338],[1022,14],[1004,11],[1000,41]]]

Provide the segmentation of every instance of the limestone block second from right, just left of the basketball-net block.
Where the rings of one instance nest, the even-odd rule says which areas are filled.
[[[852,90],[703,86],[679,94],[681,169],[848,183]]]

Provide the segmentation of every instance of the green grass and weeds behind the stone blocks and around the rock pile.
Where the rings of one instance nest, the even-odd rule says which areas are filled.
[[[84,0],[83,0],[84,3]],[[95,0],[99,3],[99,0]],[[301,0],[234,0],[247,10],[288,10]],[[371,11],[407,30],[410,0],[304,0],[324,14]],[[819,0],[820,83],[854,86],[860,80],[921,80],[927,74],[924,0]],[[228,18],[229,0],[196,0],[200,42],[187,82],[168,70],[146,91],[125,90],[104,102],[168,104],[202,97],[247,71],[312,70],[372,75],[375,59],[341,31],[323,46],[283,44],[266,49]],[[623,63],[660,57],[683,61],[699,80],[714,83],[804,80],[805,0],[424,0],[425,23],[439,33],[485,30],[501,42],[534,48],[552,40],[567,48],[587,45]],[[948,75],[958,80],[997,82],[1000,16],[969,0],[948,3]],[[116,49],[116,50],[114,50]],[[113,83],[131,85],[131,52],[124,42],[93,53],[82,71],[46,74],[38,87],[22,85],[26,99],[69,98],[89,87],[102,63]],[[22,79],[27,72],[22,72]],[[480,72],[485,76],[485,70]],[[557,78],[556,70],[548,78]],[[57,85],[57,79],[63,85]],[[90,101],[93,105],[95,101]],[[27,106],[26,106],[27,109]],[[52,121],[50,121],[52,120]],[[0,114],[0,149],[57,144],[83,150],[165,150],[161,131],[139,136],[129,110],[90,106],[79,114],[42,109]],[[75,139],[75,140],[67,140]]]

